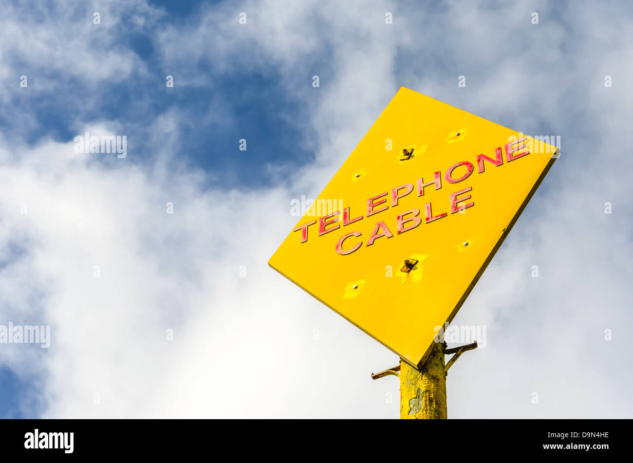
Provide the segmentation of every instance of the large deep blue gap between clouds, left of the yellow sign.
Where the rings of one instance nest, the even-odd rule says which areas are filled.
[[[141,121],[177,108],[187,111],[188,117],[181,121],[179,128],[184,142],[175,156],[186,159],[197,168],[213,171],[218,175],[218,183],[223,185],[269,185],[271,178],[261,175],[266,164],[297,166],[311,161],[313,156],[303,142],[309,123],[306,118],[302,119],[302,114],[306,113],[305,103],[302,105],[285,92],[279,73],[274,69],[241,71],[233,68],[230,73],[218,72],[213,61],[200,59],[191,63],[192,69],[188,72],[208,79],[208,83],[179,87],[182,74],[161,62],[160,51],[153,40],[166,23],[180,24],[189,15],[194,15],[192,11],[198,11],[200,6],[189,4],[182,11],[180,6],[174,8],[170,3],[160,6],[166,13],[151,27],[135,27],[123,19],[115,31],[103,32],[120,35],[115,46],[135,54],[146,71],[142,75],[132,70],[116,82],[100,83],[97,93],[91,83],[65,77],[56,83],[59,91],[47,94],[46,98],[28,92],[13,96],[13,108],[29,108],[36,118],[36,123],[23,135],[28,143],[37,144],[47,137],[68,142],[77,134],[78,120],[83,123],[103,119],[116,121],[122,133],[132,133],[138,130]],[[124,6],[120,8],[125,9]],[[85,14],[85,8],[83,10]],[[132,29],[131,33],[129,29]],[[95,32],[97,37],[99,32]],[[187,50],[182,53],[186,56]],[[30,86],[37,89],[42,71],[37,63],[28,64],[27,57],[16,56],[16,67],[24,75],[31,76]],[[51,80],[58,79],[53,72],[44,70],[44,73]],[[177,90],[166,88],[166,75],[175,75]],[[286,77],[299,80],[311,78],[311,74],[298,70],[296,75]],[[68,94],[70,89],[72,98]],[[86,105],[86,101],[91,104]],[[214,117],[215,110],[222,116]],[[11,125],[11,113],[5,113],[0,127],[11,132]],[[236,157],[235,146],[246,135],[248,142],[258,148],[249,152],[248,157]],[[144,143],[141,137],[128,138],[134,151],[139,153],[134,162],[155,156],[153,147]]]

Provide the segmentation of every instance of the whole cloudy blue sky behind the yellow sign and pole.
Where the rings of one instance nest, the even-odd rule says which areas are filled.
[[[402,86],[561,139],[449,418],[633,416],[630,3],[0,8],[0,325],[50,326],[0,343],[0,417],[397,418],[398,357],[267,261]]]

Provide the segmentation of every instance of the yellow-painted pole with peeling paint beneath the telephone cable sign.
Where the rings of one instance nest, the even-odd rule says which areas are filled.
[[[438,342],[419,371],[400,359],[400,418],[446,417],[444,343]]]

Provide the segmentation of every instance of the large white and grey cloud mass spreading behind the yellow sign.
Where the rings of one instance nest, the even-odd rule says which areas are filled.
[[[96,161],[50,140],[12,146],[10,154],[4,148],[2,252],[10,257],[12,243],[24,254],[1,270],[0,316],[33,316],[53,326],[53,339],[46,355],[13,349],[0,359],[23,374],[44,374],[44,416],[397,417],[396,379],[369,379],[395,364],[395,355],[266,261],[294,225],[291,197],[318,194],[399,85],[510,127],[565,135],[542,187],[547,194],[532,199],[456,319],[486,324],[488,342],[451,369],[449,417],[631,416],[624,342],[631,187],[621,174],[630,162],[621,136],[630,60],[616,59],[630,52],[624,40],[603,52],[569,38],[599,37],[618,19],[567,11],[568,37],[550,11],[527,37],[511,30],[529,26],[526,3],[496,12],[454,3],[432,15],[397,6],[246,3],[240,10],[249,23],[240,29],[239,11],[223,4],[161,35],[166,66],[189,75],[198,59],[227,73],[237,65],[263,68],[306,104],[316,159],[287,187],[203,187],[206,173],[169,155],[180,136],[173,120],[185,114],[178,111],[148,130],[165,156],[151,164]],[[394,11],[394,25],[384,24],[383,10]],[[39,38],[25,36],[18,49],[34,58],[53,52],[42,48],[42,37],[59,27],[45,22]],[[112,68],[120,72],[99,77],[116,80],[137,65],[128,51],[115,58],[84,48],[82,34],[73,37],[78,52],[56,50],[60,73],[84,69],[75,66],[84,58],[121,59]],[[425,59],[403,68],[401,58],[416,53]],[[513,66],[517,56],[527,64]],[[87,81],[99,76],[68,72]],[[465,72],[467,88],[458,89]],[[618,76],[613,89],[603,86],[603,72]],[[319,89],[311,88],[313,73],[322,75]],[[108,130],[108,121],[97,127]],[[579,134],[579,127],[592,132]],[[605,201],[614,204],[611,216]],[[20,214],[23,202],[28,214]],[[539,278],[530,277],[534,264]],[[603,340],[605,328],[613,341]],[[386,392],[394,404],[385,404]],[[539,405],[530,403],[532,392]],[[596,393],[601,401],[589,400]]]

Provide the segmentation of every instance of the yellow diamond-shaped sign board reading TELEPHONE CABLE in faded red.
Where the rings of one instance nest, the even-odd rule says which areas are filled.
[[[559,152],[402,87],[268,264],[420,367]]]

